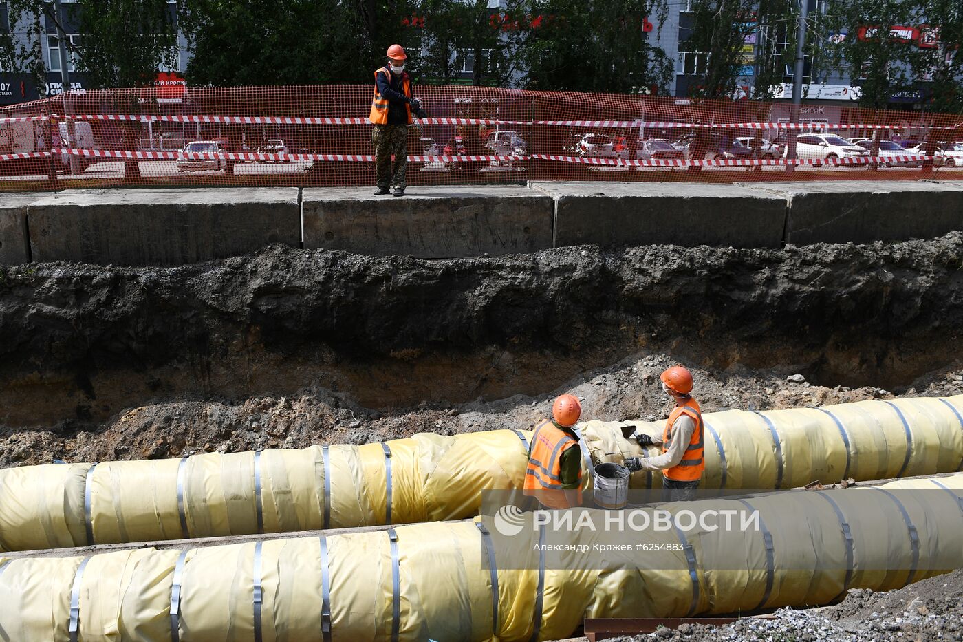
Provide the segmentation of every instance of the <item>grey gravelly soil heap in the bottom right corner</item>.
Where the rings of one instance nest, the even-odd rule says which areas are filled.
[[[695,640],[749,642],[885,642],[963,640],[963,570],[876,593],[852,589],[836,606],[780,609],[774,620],[743,619],[726,627],[683,625],[612,642]]]

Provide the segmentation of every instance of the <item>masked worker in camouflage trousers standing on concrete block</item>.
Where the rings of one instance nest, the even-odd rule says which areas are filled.
[[[368,117],[375,125],[371,132],[375,144],[375,196],[391,194],[394,188],[394,196],[401,197],[407,186],[408,125],[413,122],[411,112],[421,112],[421,102],[411,95],[411,77],[404,71],[408,56],[402,45],[392,44],[387,55],[387,65],[375,70],[375,97]]]

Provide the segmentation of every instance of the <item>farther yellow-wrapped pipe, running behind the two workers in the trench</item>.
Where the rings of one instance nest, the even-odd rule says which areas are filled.
[[[963,464],[963,395],[705,419],[703,488],[785,489],[846,476],[952,472]],[[585,468],[591,459],[619,457],[610,452],[641,454],[635,441],[622,439],[622,425],[582,424]],[[636,425],[662,430],[658,422]],[[421,434],[361,446],[8,468],[0,471],[0,549],[473,517],[482,490],[521,488],[531,436]],[[633,475],[635,487],[651,483],[652,475]]]

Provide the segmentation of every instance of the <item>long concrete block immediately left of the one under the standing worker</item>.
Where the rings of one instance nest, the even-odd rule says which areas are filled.
[[[297,188],[74,190],[27,218],[35,261],[170,266],[300,242]]]

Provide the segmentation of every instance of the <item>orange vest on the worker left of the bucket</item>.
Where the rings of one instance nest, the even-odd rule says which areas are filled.
[[[561,455],[569,448],[578,448],[579,442],[556,427],[551,421],[542,421],[532,436],[529,466],[525,470],[523,495],[534,495],[546,508],[571,508],[565,490],[561,488]],[[576,491],[576,489],[569,489]],[[582,470],[579,469],[579,506],[582,504]]]

